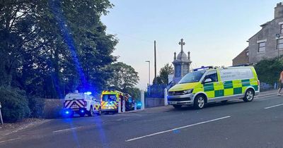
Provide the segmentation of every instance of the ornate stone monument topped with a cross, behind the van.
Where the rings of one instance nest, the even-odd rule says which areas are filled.
[[[173,81],[179,82],[181,78],[183,78],[184,75],[190,72],[190,64],[192,61],[190,61],[190,51],[185,54],[183,46],[185,45],[185,42],[183,42],[183,39],[179,42],[181,46],[181,51],[176,56],[176,53],[174,52],[174,61],[173,61],[173,66],[174,66],[174,77]]]

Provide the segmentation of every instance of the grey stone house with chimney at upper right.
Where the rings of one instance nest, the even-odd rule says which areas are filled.
[[[274,19],[260,25],[260,27],[262,27],[261,30],[248,39],[247,49],[233,59],[233,66],[253,64],[264,58],[275,58],[283,54],[282,3],[275,7]]]

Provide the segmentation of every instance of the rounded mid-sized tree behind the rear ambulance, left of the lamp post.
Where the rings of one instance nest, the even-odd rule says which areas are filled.
[[[112,78],[110,78],[108,85],[115,87],[115,89],[124,92],[127,88],[134,87],[139,82],[138,73],[125,63],[113,63],[110,67],[112,71]]]

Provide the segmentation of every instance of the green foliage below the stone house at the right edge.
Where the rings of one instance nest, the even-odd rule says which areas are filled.
[[[283,70],[282,58],[279,61],[277,58],[264,59],[255,65],[255,70],[261,82],[274,85],[279,81],[279,73]]]

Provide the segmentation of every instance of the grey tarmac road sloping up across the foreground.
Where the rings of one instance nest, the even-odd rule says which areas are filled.
[[[54,119],[1,138],[0,147],[283,147],[282,138],[283,96],[269,96]]]

